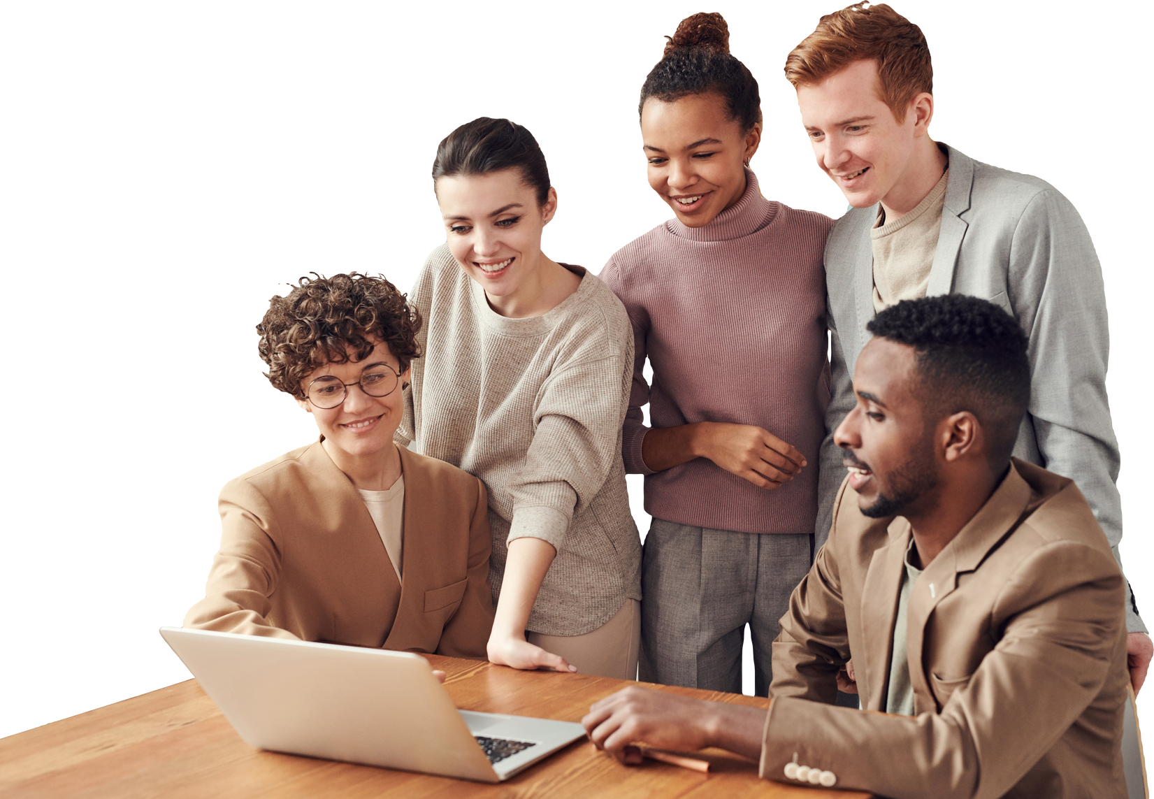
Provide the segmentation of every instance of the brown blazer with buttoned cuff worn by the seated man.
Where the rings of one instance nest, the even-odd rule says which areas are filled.
[[[862,708],[885,709],[911,537],[900,516],[863,516],[847,485],[833,520],[773,643],[763,777],[789,782],[796,753],[894,799],[1126,796],[1123,581],[1072,480],[1014,458],[913,584],[916,717],[832,707],[853,652]]]

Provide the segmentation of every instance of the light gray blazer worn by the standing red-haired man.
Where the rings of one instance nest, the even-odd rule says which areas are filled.
[[[982,297],[1021,323],[1033,379],[1014,455],[1073,478],[1117,557],[1122,494],[1107,386],[1110,337],[1089,233],[1047,181],[939,147],[950,156],[950,177],[927,294]],[[874,319],[876,218],[877,206],[847,211],[825,245],[832,399],[820,455],[818,545],[845,477],[833,431],[854,406],[854,364],[871,337],[865,324]]]

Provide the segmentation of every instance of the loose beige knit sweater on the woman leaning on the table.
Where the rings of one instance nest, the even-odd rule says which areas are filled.
[[[557,550],[529,629],[582,635],[640,599],[640,532],[621,426],[632,379],[625,309],[595,276],[542,316],[501,316],[434,248],[409,290],[425,324],[397,441],[475,475],[489,494],[496,602],[508,542]]]

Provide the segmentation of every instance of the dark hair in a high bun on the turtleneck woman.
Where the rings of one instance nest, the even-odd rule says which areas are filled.
[[[715,94],[742,133],[762,124],[762,92],[745,62],[729,52],[729,23],[719,12],[694,12],[666,33],[661,60],[637,92],[637,127],[650,97],[673,103],[688,95]]]

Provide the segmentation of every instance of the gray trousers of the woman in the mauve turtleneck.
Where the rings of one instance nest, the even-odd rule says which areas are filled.
[[[809,572],[814,536],[650,523],[642,572],[640,679],[741,692],[741,626],[750,626],[754,692],[769,693],[772,643]]]

